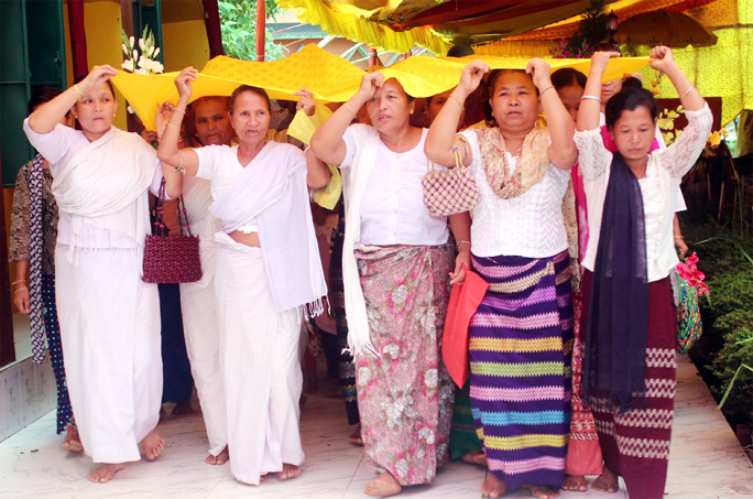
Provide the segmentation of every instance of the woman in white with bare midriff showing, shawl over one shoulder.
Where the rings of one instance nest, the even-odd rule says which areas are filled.
[[[178,150],[194,79],[194,68],[175,79],[177,112],[157,154],[178,171],[211,180],[209,211],[222,225],[216,235],[215,290],[230,467],[245,484],[259,485],[268,473],[288,479],[301,473],[304,458],[301,311],[320,314],[327,293],[307,188],[325,186],[329,170],[293,145],[265,141],[269,98],[249,86],[230,98],[239,145]]]

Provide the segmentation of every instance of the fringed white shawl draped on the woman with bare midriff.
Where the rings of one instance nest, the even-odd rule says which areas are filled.
[[[287,149],[291,148],[291,149]],[[279,312],[324,312],[321,270],[306,185],[306,159],[291,144],[268,142],[209,207],[227,234],[257,218],[266,278]]]

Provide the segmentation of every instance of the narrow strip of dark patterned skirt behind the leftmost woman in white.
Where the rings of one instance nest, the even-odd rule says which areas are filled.
[[[50,348],[50,362],[57,387],[57,433],[62,433],[68,426],[75,427],[75,423],[70,399],[68,398],[68,386],[65,382],[61,325],[57,322],[57,306],[55,305],[55,274],[42,274],[42,303],[44,306],[44,330],[47,334],[47,347]]]

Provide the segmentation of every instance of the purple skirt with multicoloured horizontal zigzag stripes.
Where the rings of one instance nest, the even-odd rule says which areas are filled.
[[[508,489],[558,488],[570,432],[568,253],[473,257],[473,270],[490,283],[469,330],[473,421],[489,470]]]

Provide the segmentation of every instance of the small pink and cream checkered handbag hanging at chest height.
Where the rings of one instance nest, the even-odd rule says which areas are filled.
[[[460,151],[454,150],[455,167],[435,172],[434,163],[426,160],[428,173],[421,180],[424,187],[424,206],[432,215],[455,215],[470,211],[479,204],[481,195],[470,167],[460,160]]]

